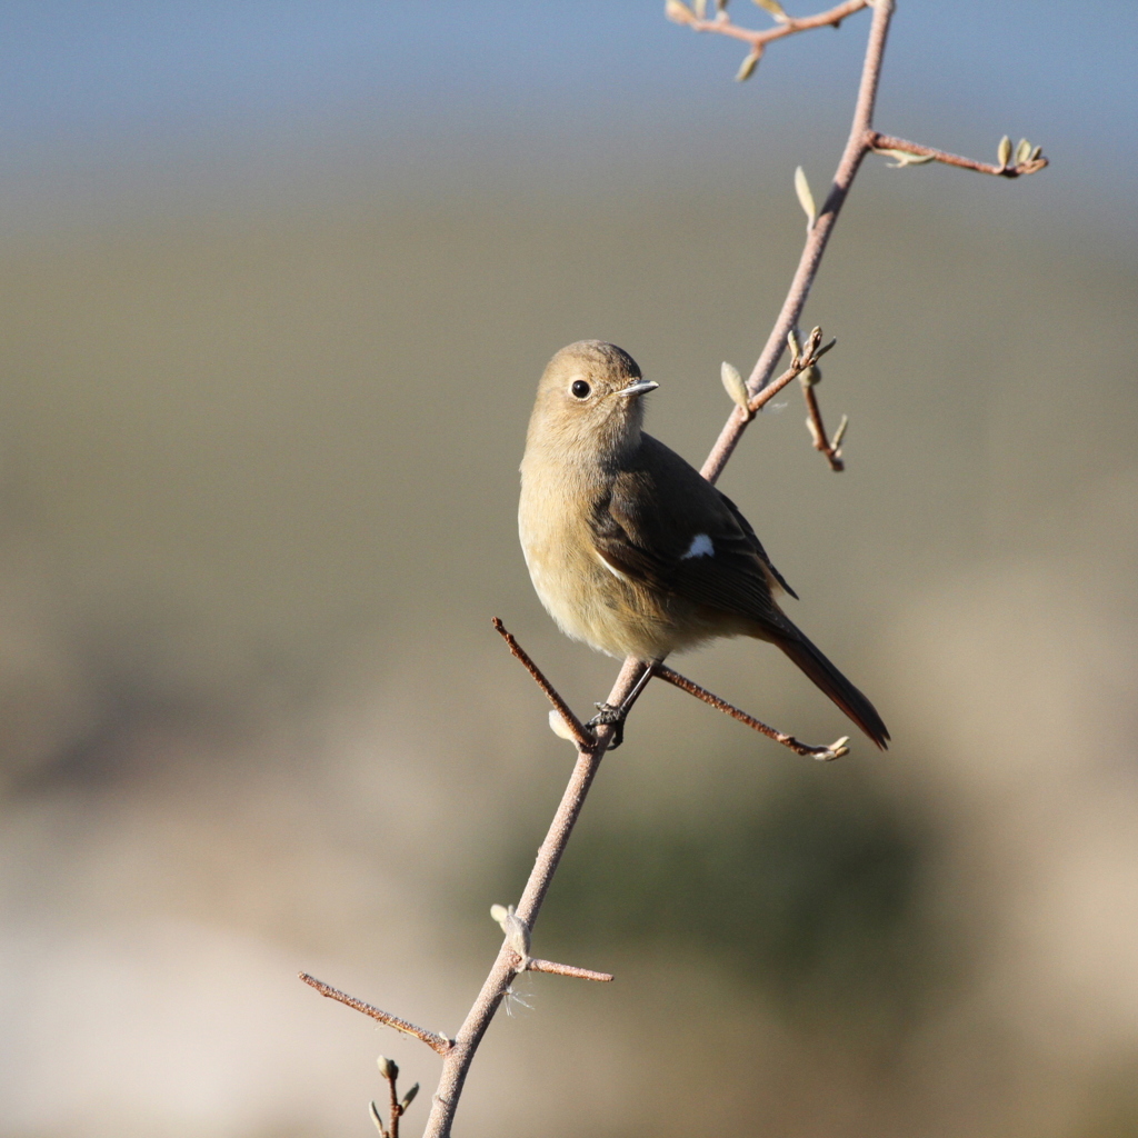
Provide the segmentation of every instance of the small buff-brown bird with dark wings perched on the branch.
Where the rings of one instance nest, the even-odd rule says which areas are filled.
[[[542,604],[567,635],[645,663],[718,636],[769,641],[884,749],[873,704],[778,608],[797,594],[734,502],[641,429],[658,386],[600,340],[545,369],[518,510]]]

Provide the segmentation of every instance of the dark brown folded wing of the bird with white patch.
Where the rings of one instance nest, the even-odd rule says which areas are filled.
[[[747,520],[648,435],[597,501],[592,530],[600,556],[633,580],[760,622],[785,622],[773,592],[791,591]]]

